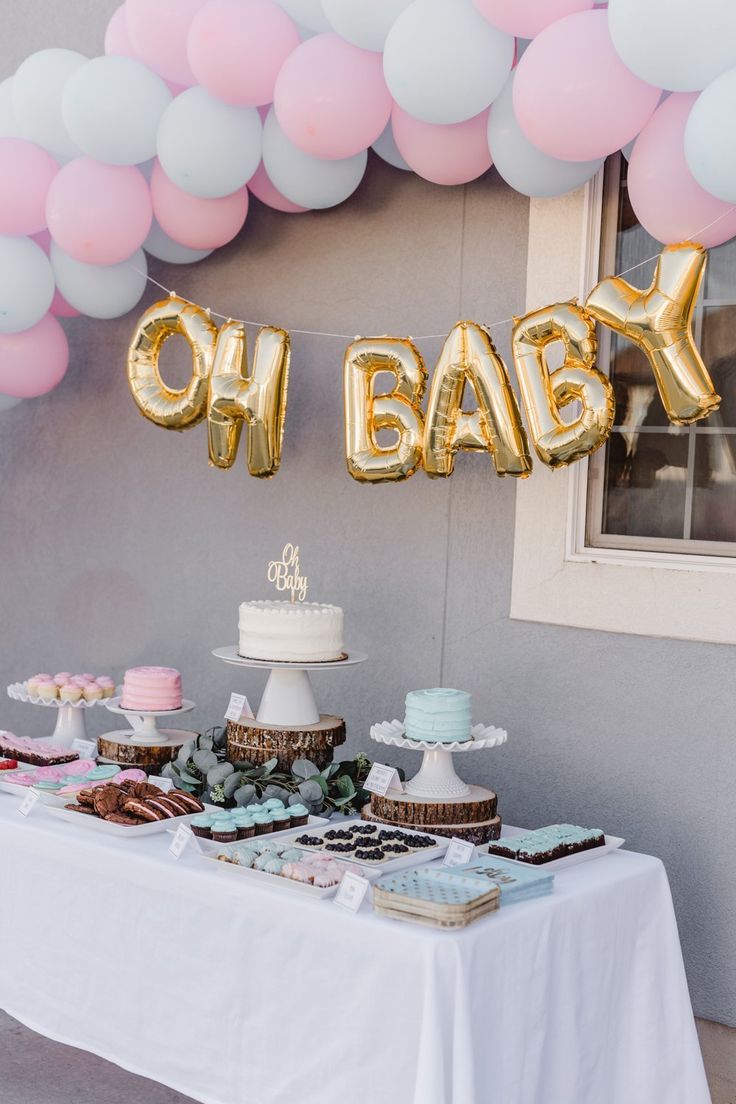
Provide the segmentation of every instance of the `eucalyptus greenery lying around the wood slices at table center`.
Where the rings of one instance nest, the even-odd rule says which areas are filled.
[[[306,805],[312,816],[329,817],[361,811],[371,796],[363,788],[370,769],[371,761],[363,754],[330,763],[323,771],[310,760],[296,760],[290,773],[279,771],[276,758],[258,766],[247,761],[231,763],[227,732],[214,728],[182,744],[161,774],[203,802],[224,808],[278,797],[285,805]]]

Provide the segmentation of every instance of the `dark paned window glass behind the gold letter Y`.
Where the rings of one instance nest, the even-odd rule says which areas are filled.
[[[600,274],[650,283],[661,246],[629,203],[626,162],[609,159],[604,182]],[[641,264],[641,262],[644,262]],[[588,548],[736,556],[736,241],[711,250],[695,340],[721,408],[672,425],[651,369],[631,342],[599,328],[599,367],[616,392],[616,425],[588,465]]]

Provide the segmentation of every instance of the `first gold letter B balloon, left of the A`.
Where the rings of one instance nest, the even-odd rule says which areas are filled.
[[[376,376],[388,372],[395,384],[375,394]],[[348,346],[344,362],[345,455],[359,482],[408,479],[422,464],[424,417],[419,407],[427,382],[422,353],[401,338],[359,338]],[[393,429],[396,442],[380,445],[380,429]]]

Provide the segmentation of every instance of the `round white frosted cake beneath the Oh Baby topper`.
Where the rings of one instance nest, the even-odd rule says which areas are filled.
[[[243,602],[238,654],[280,662],[342,659],[342,609],[318,602]]]

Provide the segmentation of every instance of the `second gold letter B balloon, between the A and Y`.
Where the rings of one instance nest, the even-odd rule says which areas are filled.
[[[550,371],[547,349],[562,341],[565,360]],[[514,363],[537,456],[551,468],[582,460],[607,440],[614,425],[614,388],[595,368],[593,320],[575,302],[557,302],[516,321]],[[583,410],[565,422],[559,411]]]

